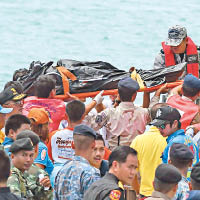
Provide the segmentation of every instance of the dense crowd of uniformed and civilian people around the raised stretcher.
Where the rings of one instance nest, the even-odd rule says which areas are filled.
[[[183,82],[144,92],[131,77],[118,94],[86,104],[55,99],[48,75],[35,96],[19,81],[0,93],[0,200],[200,199],[199,48],[185,27],[169,29],[154,68],[187,62]],[[166,102],[160,95],[167,93]]]

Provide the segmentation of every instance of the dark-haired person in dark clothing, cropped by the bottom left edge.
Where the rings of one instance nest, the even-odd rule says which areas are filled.
[[[0,200],[20,200],[7,187],[7,180],[10,176],[10,160],[3,150],[0,150]]]

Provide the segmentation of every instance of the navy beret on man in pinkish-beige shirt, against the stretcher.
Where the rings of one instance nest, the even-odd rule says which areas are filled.
[[[131,77],[123,78],[118,83],[119,90],[126,90],[127,92],[135,93],[140,88],[137,81],[133,80]]]

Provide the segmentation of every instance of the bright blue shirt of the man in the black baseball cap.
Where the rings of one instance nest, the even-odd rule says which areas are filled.
[[[196,142],[194,142],[194,140],[189,135],[185,135],[185,132],[183,129],[180,129],[172,133],[170,136],[168,136],[167,146],[162,155],[163,163],[168,163],[170,147],[174,143],[185,144],[192,150],[194,154],[193,166],[199,162],[199,148]]]

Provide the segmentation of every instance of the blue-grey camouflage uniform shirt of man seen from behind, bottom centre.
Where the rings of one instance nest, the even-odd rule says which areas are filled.
[[[81,157],[65,163],[56,176],[54,200],[81,200],[89,186],[100,178],[99,170]]]

